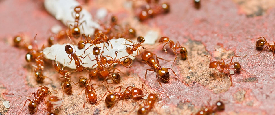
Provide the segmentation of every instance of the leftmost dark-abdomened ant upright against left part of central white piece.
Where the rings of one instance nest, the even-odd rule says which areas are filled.
[[[66,45],[66,46],[65,46],[65,51],[66,51],[66,53],[68,54],[68,57],[69,57],[69,55],[71,55],[71,57],[69,57],[69,58],[70,58],[71,61],[74,60],[75,65],[76,65],[76,70],[72,70],[72,71],[70,71],[70,72],[65,73],[66,76],[69,75],[69,74],[71,74],[72,72],[82,72],[84,69],[85,69],[86,71],[89,71],[89,70],[86,69],[86,68],[88,68],[88,67],[84,67],[84,66],[80,65],[80,62],[81,62],[82,64],[85,64],[85,63],[83,63],[83,62],[81,61],[81,59],[79,58],[79,57],[81,57],[81,58],[84,59],[87,55],[86,55],[85,57],[77,56],[77,55],[76,55],[76,51],[74,52],[74,49],[73,49],[70,45]],[[74,52],[74,53],[73,53],[73,52]],[[71,61],[69,62],[69,64],[71,64]]]

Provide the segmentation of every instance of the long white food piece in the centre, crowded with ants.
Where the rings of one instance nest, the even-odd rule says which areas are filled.
[[[131,47],[131,46],[127,45],[127,47],[126,47],[125,41],[126,41],[126,44],[130,44],[130,45],[133,44],[133,43],[125,40],[124,38],[111,39],[110,42],[113,45],[113,49],[111,48],[110,43],[109,43],[109,46],[108,46],[107,43],[105,43],[105,45],[109,49],[109,51],[106,49],[106,47],[104,47],[104,53],[102,55],[104,55],[105,57],[106,57],[106,55],[108,55],[108,56],[111,56],[111,57],[115,58],[116,57],[116,51],[121,51],[121,52],[118,52],[117,59],[121,58],[121,57],[124,57],[124,56],[128,56],[129,54],[126,52],[126,48]],[[51,47],[45,48],[43,50],[43,53],[44,53],[46,59],[55,60],[55,56],[56,56],[57,62],[59,62],[60,64],[63,64],[64,60],[65,60],[64,66],[69,67],[71,69],[75,69],[76,65],[74,63],[74,60],[71,61],[68,57],[68,54],[65,51],[65,46],[66,45],[67,44],[63,44],[63,45],[54,44]],[[68,44],[68,45],[71,45],[71,44]],[[75,47],[73,47],[73,45],[71,45],[71,46],[74,49],[74,52],[76,51],[76,55],[80,56],[84,53],[84,50],[87,49],[90,46],[90,44],[89,43],[86,44],[85,48],[82,49],[82,50],[77,49],[77,46],[75,46]],[[97,44],[96,46],[101,47],[101,50],[100,50],[100,53],[101,53],[102,49],[103,49],[103,43]],[[93,48],[94,47],[95,47],[95,45],[92,45],[89,49],[87,49],[85,51],[85,54],[82,55],[82,57],[86,56],[87,54],[89,54],[89,56],[86,56],[84,59],[79,57],[80,60],[82,60],[82,62],[85,63],[85,64],[80,63],[84,67],[91,68],[94,64],[96,64],[96,60],[94,60],[96,58],[93,55]],[[136,51],[134,51],[133,55],[136,56],[136,54],[137,54]],[[71,57],[71,55],[69,55],[69,56]],[[100,57],[100,55],[98,57]],[[131,55],[129,55],[129,57],[131,59],[135,59],[135,57],[133,57]],[[107,60],[111,59],[109,57],[106,57],[106,58],[107,58]],[[91,60],[94,60],[94,61],[91,61]],[[123,61],[124,58],[120,59],[120,60]],[[71,61],[71,64],[69,65],[70,61]],[[94,66],[93,68],[96,68],[96,67],[97,66]]]

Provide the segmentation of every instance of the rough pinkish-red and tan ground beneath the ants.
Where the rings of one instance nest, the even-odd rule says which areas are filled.
[[[119,18],[133,20],[133,11],[125,11],[120,2],[123,1],[112,3],[111,0],[95,0],[87,8],[94,14],[95,9],[106,7],[114,11]],[[275,114],[275,61],[272,52],[268,50],[254,55],[261,50],[255,48],[256,39],[251,39],[265,36],[268,42],[274,43],[274,1],[205,0],[202,1],[199,10],[193,7],[192,1],[171,0],[169,3],[169,14],[157,16],[143,23],[138,23],[135,19],[131,24],[136,26],[139,35],[148,28],[153,28],[160,30],[163,36],[179,41],[188,49],[188,59],[192,67],[180,58],[174,66],[173,61],[161,60],[160,64],[162,67],[172,68],[189,86],[175,79],[169,71],[170,82],[162,83],[162,89],[155,78],[156,73],[149,72],[145,88],[149,93],[158,94],[160,98],[149,114],[194,114],[208,103],[213,105],[218,100],[223,101],[226,106],[225,111],[218,114]],[[49,28],[55,24],[62,25],[45,11],[41,1],[2,0],[0,14],[0,114],[18,114],[25,99],[29,98],[27,96],[40,85],[57,90],[58,93],[52,95],[64,100],[59,114],[136,114],[140,102],[131,99],[125,100],[123,105],[122,101],[118,101],[113,108],[108,109],[104,100],[96,107],[87,103],[84,93],[77,95],[82,88],[77,89],[76,86],[73,86],[73,95],[62,95],[60,75],[52,68],[51,61],[46,64],[44,75],[52,78],[53,82],[45,80],[44,83],[38,84],[34,80],[31,64],[24,58],[26,52],[13,47],[10,41],[11,37],[19,32],[27,34],[30,39],[38,34],[37,40],[41,46],[46,43]],[[161,51],[161,45],[156,44],[154,47],[150,50],[159,57],[174,60],[175,55],[171,50],[166,54]],[[204,54],[213,57],[213,60],[224,58],[227,63],[233,55],[247,55],[245,58],[233,58],[233,61],[239,62],[245,71],[255,75],[241,71],[240,74],[231,76],[231,83],[229,76],[208,68],[209,58],[203,56]],[[132,85],[142,87],[145,70],[149,66],[138,61],[133,65],[130,69],[118,66],[128,75],[122,77],[123,90]],[[81,75],[85,76],[87,73],[72,74],[72,80],[76,82]],[[101,83],[97,79],[93,79],[92,82]],[[117,86],[118,84],[110,84],[111,89]],[[106,92],[104,86],[95,86],[95,89],[98,96]],[[102,96],[99,97],[101,98]],[[186,99],[190,102],[184,101]],[[8,109],[3,106],[3,101],[7,100],[10,101]],[[43,108],[45,104],[41,103],[37,114],[46,114]],[[27,106],[22,114],[28,114]]]

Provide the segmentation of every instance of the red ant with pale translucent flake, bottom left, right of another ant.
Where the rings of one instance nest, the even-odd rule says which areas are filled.
[[[47,111],[49,112],[48,115],[56,115],[56,113],[53,112],[54,109],[61,107],[62,100],[58,99],[56,96],[51,96],[48,98],[48,101],[44,101],[47,107]]]

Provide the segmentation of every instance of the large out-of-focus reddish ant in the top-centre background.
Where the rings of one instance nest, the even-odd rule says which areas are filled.
[[[163,3],[161,5],[157,4],[155,6],[147,5],[146,9],[142,10],[138,17],[140,21],[144,21],[150,17],[154,17],[159,14],[166,14],[169,11],[170,11],[170,5],[168,3]]]

